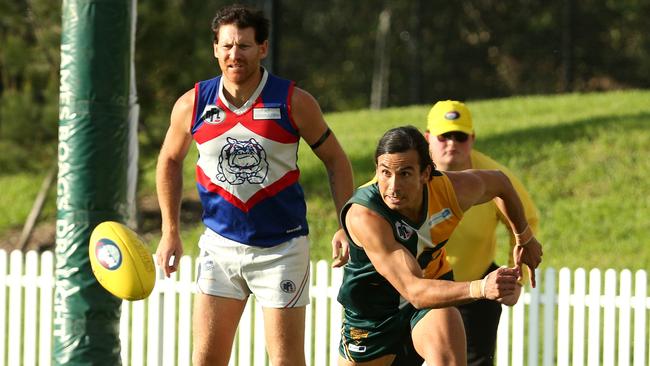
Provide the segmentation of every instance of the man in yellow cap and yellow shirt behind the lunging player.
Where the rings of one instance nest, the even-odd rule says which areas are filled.
[[[438,170],[496,169],[504,172],[519,194],[530,229],[537,233],[539,214],[521,182],[507,168],[473,149],[476,136],[472,116],[464,103],[454,100],[437,102],[429,111],[425,137]],[[490,201],[466,211],[449,238],[447,259],[452,265],[454,280],[481,279],[499,267],[495,263],[499,223],[503,223],[510,233],[509,264],[512,265],[515,234],[494,201]],[[468,365],[493,365],[501,304],[480,300],[460,305],[458,309],[465,325]]]

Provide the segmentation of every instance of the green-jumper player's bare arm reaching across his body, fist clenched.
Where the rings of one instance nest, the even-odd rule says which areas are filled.
[[[499,268],[487,276],[485,296],[471,296],[470,282],[423,278],[413,255],[394,240],[390,224],[363,206],[352,205],[346,215],[346,225],[352,239],[364,248],[377,272],[416,308],[458,305],[480,297],[500,300],[516,290],[518,272],[511,268]]]

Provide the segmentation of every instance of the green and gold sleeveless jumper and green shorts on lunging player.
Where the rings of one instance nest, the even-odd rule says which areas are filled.
[[[416,310],[377,272],[364,249],[349,238],[345,216],[352,204],[375,211],[388,221],[395,240],[417,259],[426,278],[453,279],[444,245],[463,216],[449,178],[435,171],[424,190],[418,222],[384,203],[376,182],[357,189],[343,207],[341,222],[350,241],[350,259],[344,268],[338,301],[344,307],[340,354],[364,362],[398,354],[410,330],[429,309]]]

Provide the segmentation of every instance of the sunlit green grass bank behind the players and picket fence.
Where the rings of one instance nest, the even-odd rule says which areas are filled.
[[[476,148],[517,174],[540,210],[542,268],[650,267],[650,250],[645,250],[650,244],[648,100],[650,91],[468,101]],[[422,105],[326,115],[352,161],[357,185],[373,174],[374,148],[381,134],[404,124],[424,128],[428,109]],[[189,197],[195,196],[192,160],[185,164]],[[304,143],[299,164],[312,257],[328,259],[336,214],[325,171]],[[143,161],[140,166],[140,194],[152,194],[154,162]],[[0,233],[22,225],[42,178],[0,176]],[[44,219],[53,220],[55,210],[52,197]],[[199,225],[184,228],[186,252],[195,253],[200,232]],[[152,246],[155,235],[150,236]],[[500,237],[504,239],[505,232]],[[500,258],[505,255],[501,252]]]

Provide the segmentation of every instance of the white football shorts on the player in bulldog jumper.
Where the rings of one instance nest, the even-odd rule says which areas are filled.
[[[309,304],[309,239],[270,248],[245,245],[206,229],[199,239],[197,291],[244,300],[250,294],[268,308]]]

